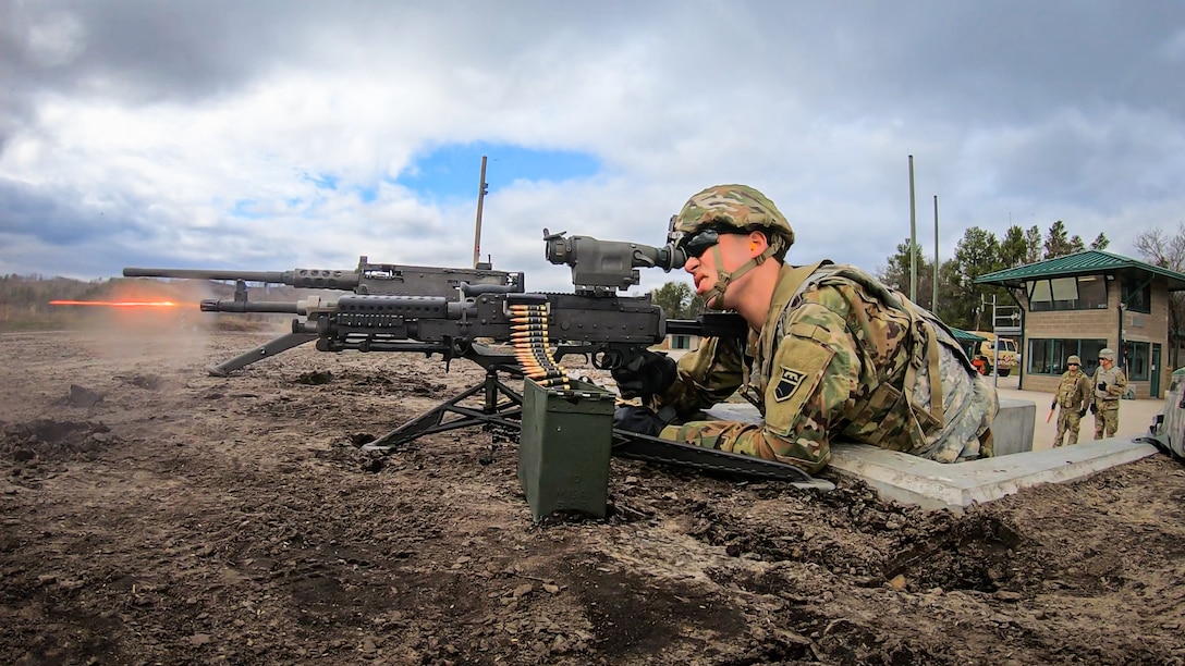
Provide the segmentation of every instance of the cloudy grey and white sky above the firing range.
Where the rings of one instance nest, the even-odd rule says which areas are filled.
[[[1185,4],[0,0],[0,274],[466,267],[661,244],[747,182],[789,261],[1185,222]],[[649,271],[641,288],[671,278]]]

